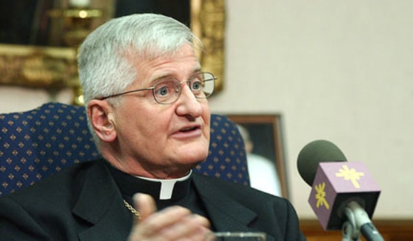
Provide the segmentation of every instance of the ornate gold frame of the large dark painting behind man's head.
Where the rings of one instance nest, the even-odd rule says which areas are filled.
[[[191,30],[204,43],[198,53],[204,70],[218,77],[216,91],[224,77],[224,0],[190,0]],[[74,104],[82,104],[78,82],[76,47],[40,47],[0,43],[0,85],[36,87],[45,90],[74,90]]]

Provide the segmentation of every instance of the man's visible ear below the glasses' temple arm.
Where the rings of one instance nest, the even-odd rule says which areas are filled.
[[[94,132],[106,143],[116,139],[117,133],[113,118],[113,107],[107,101],[92,100],[87,105],[87,115]]]

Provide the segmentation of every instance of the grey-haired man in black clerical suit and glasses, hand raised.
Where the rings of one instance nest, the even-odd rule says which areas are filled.
[[[0,236],[204,240],[211,231],[263,231],[305,240],[287,200],[192,173],[208,155],[215,81],[198,48],[187,26],[158,14],[112,19],[89,34],[79,77],[103,159],[1,198]]]

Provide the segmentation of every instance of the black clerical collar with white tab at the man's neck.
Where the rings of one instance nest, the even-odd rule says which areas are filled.
[[[107,166],[120,192],[130,197],[139,192],[147,193],[155,200],[174,201],[187,196],[191,187],[192,170],[182,178],[163,180],[131,176],[112,167],[109,163],[107,163]]]

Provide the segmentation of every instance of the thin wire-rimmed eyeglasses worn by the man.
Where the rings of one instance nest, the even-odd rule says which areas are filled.
[[[195,98],[208,98],[213,93],[216,79],[217,78],[210,72],[200,72],[189,78],[187,81],[182,82],[171,77],[160,78],[157,83],[151,87],[112,94],[110,96],[100,97],[98,100],[103,101],[107,98],[124,94],[140,92],[142,90],[152,90],[155,101],[160,105],[167,105],[178,101],[182,90],[182,83],[187,83]]]

